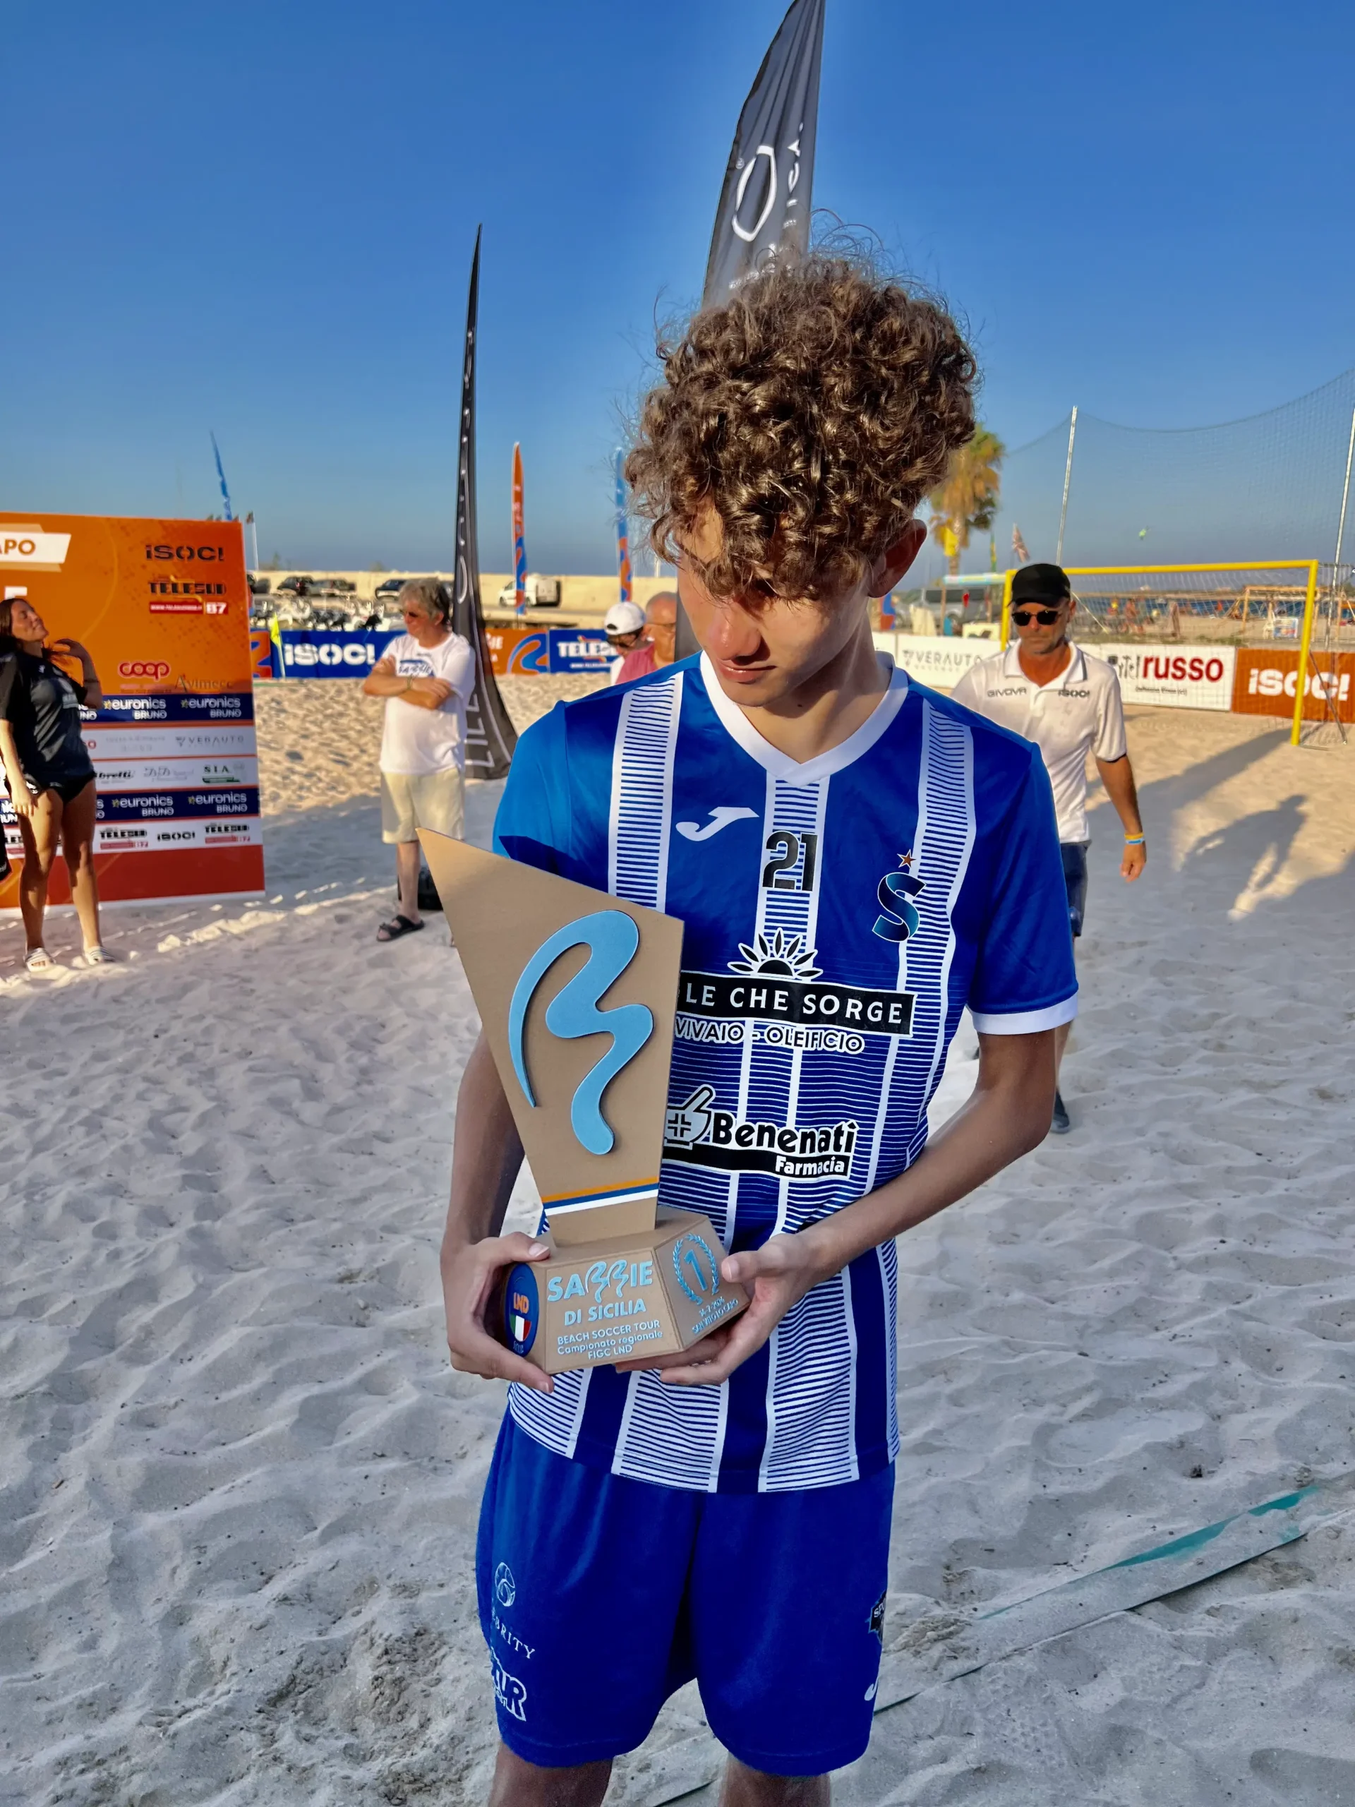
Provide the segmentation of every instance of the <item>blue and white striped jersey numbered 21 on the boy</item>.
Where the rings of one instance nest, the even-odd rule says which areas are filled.
[[[918,1158],[965,1005],[999,1034],[1077,1008],[1037,748],[902,670],[806,764],[705,660],[562,703],[519,741],[495,846],[687,923],[659,1196],[730,1250]],[[593,1368],[513,1386],[509,1409],[560,1455],[668,1487],[856,1480],[898,1449],[896,1294],[891,1241],[724,1386]]]

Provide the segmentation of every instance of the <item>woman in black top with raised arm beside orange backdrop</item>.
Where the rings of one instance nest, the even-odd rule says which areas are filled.
[[[67,678],[56,658],[79,660],[81,681]],[[56,847],[65,853],[70,898],[85,938],[85,965],[112,956],[99,941],[99,893],[94,884],[94,764],[79,734],[79,705],[103,701],[99,674],[78,640],[54,640],[27,596],[0,602],[0,759],[5,788],[23,840],[18,904],[29,950],[29,972],[49,972],[42,945],[47,875]]]

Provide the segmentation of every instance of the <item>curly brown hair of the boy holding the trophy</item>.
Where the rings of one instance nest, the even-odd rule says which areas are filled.
[[[658,354],[625,475],[663,558],[719,515],[715,596],[855,587],[974,434],[954,320],[862,258],[771,266]]]

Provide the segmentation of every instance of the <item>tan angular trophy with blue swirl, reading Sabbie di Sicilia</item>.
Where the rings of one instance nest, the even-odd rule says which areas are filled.
[[[683,925],[419,829],[546,1209],[546,1261],[508,1274],[502,1325],[546,1373],[668,1355],[748,1292],[701,1211],[659,1205]]]

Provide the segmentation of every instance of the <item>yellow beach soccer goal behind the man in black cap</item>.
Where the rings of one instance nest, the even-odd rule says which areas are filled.
[[[1003,573],[1003,632],[1012,638],[1012,580]],[[1294,728],[1299,744],[1317,614],[1317,558],[1243,558],[1230,564],[1066,566],[1079,604],[1079,638],[1241,645],[1248,636],[1297,641]],[[1080,580],[1080,582],[1079,582]],[[1333,584],[1333,607],[1335,584]],[[1286,683],[1288,688],[1288,683]]]

